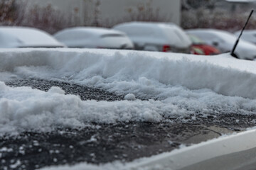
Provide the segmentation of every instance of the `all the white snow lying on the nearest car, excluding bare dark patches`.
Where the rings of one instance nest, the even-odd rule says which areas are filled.
[[[218,116],[256,111],[256,62],[236,60],[228,54],[3,49],[0,61],[0,135],[50,132],[90,123],[169,122],[172,116],[183,120],[196,113]],[[59,87],[45,92],[3,82],[28,78],[94,86],[122,94],[127,100],[82,101],[79,96],[65,95]]]

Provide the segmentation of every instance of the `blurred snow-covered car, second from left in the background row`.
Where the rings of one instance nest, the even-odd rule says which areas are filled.
[[[75,27],[55,33],[54,37],[68,47],[133,49],[125,33],[107,28]]]

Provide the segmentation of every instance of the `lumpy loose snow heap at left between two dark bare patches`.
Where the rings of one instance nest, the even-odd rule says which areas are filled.
[[[45,92],[30,87],[11,88],[1,82],[0,96],[0,135],[26,130],[46,132],[58,127],[79,128],[94,122],[160,122],[168,115],[186,113],[178,106],[166,106],[154,100],[81,101],[78,96],[64,95],[58,87]]]

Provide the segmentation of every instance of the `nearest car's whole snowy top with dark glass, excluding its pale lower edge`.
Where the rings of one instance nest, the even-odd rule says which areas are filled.
[[[0,61],[0,169],[120,169],[255,127],[256,62],[229,54],[2,49]]]

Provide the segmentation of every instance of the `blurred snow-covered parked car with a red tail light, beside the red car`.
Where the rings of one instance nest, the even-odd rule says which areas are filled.
[[[113,27],[127,33],[135,50],[190,53],[191,40],[173,23],[130,22]]]

